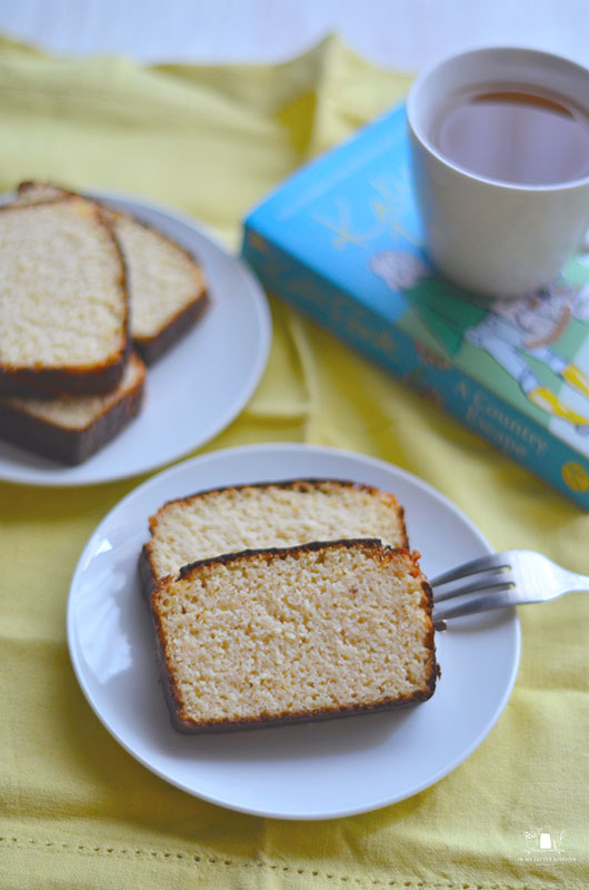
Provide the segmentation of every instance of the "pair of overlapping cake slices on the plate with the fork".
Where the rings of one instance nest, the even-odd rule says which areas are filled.
[[[164,504],[150,528],[140,575],[179,731],[433,694],[431,589],[392,495],[336,479],[231,486]]]

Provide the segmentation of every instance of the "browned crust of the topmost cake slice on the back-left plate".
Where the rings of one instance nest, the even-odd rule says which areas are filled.
[[[50,198],[47,201],[39,201],[34,206],[74,201],[79,199],[79,196],[66,192],[60,198]],[[0,212],[2,214],[14,212],[19,209],[22,209],[22,205],[18,202],[0,206]],[[60,395],[104,395],[111,393],[120,384],[124,373],[124,366],[131,352],[127,266],[112,226],[104,218],[104,215],[98,206],[93,208],[93,211],[96,221],[109,233],[120,266],[117,286],[120,289],[126,306],[123,342],[120,349],[113,353],[109,359],[87,366],[77,365],[72,367],[63,365],[58,368],[16,368],[0,362],[0,395],[30,396],[34,398],[58,398]]]

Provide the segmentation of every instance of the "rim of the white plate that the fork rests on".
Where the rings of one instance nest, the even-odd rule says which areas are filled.
[[[489,553],[493,552],[492,546],[487,541],[485,535],[479,531],[478,526],[463,513],[463,511],[458,507],[447,495],[439,492],[433,485],[426,482],[425,479],[420,478],[416,474],[411,473],[410,471],[406,469],[405,467],[400,467],[397,464],[392,464],[386,459],[373,457],[371,455],[366,455],[360,452],[353,452],[350,449],[338,448],[333,446],[326,446],[326,445],[313,445],[311,443],[297,443],[297,442],[263,442],[263,443],[249,443],[244,445],[234,445],[228,446],[224,448],[219,448],[212,452],[206,452],[201,455],[196,455],[190,457],[186,461],[181,461],[172,466],[166,467],[164,469],[160,471],[158,474],[151,476],[148,479],[144,479],[130,492],[128,492],[123,497],[121,497],[110,510],[109,512],[100,520],[96,528],[93,530],[92,534],[88,538],[83,550],[80,553],[78,563],[76,565],[74,572],[72,574],[72,580],[68,593],[68,603],[67,603],[67,616],[66,616],[66,624],[67,624],[67,642],[68,642],[68,650],[70,655],[70,662],[72,664],[72,669],[76,675],[76,679],[80,685],[82,694],[89,706],[91,708],[94,715],[99,719],[102,723],[107,732],[111,734],[116,741],[139,763],[141,763],[146,769],[148,769],[154,775],[158,775],[160,779],[169,783],[170,785],[183,791],[184,793],[190,794],[199,800],[203,800],[208,803],[213,803],[218,807],[222,807],[224,809],[232,810],[234,812],[241,812],[249,815],[257,815],[260,818],[269,818],[269,819],[279,819],[282,821],[321,821],[321,820],[333,820],[333,819],[342,819],[350,815],[358,815],[361,813],[367,812],[375,812],[388,805],[395,805],[396,803],[400,803],[403,800],[409,800],[413,798],[416,794],[427,790],[428,788],[433,787],[437,784],[441,779],[449,775],[453,772],[461,763],[463,763],[480,746],[480,744],[485,741],[485,739],[490,734],[493,726],[498,722],[499,718],[505,711],[505,708],[511,696],[520,665],[521,660],[521,625],[519,621],[519,616],[516,609],[502,610],[505,614],[510,614],[511,623],[510,623],[510,631],[512,633],[512,653],[511,653],[511,670],[509,673],[509,679],[506,683],[503,689],[502,695],[499,699],[498,704],[493,713],[489,716],[489,719],[485,722],[485,725],[478,733],[478,735],[471,740],[470,744],[467,745],[463,750],[461,750],[457,756],[455,756],[449,763],[445,764],[445,767],[435,774],[428,775],[423,778],[423,781],[417,783],[412,787],[410,793],[402,793],[400,795],[385,795],[379,802],[372,802],[367,805],[352,805],[347,809],[337,808],[336,810],[329,811],[325,810],[321,813],[290,813],[290,812],[282,812],[278,810],[268,810],[260,807],[254,805],[243,805],[243,804],[236,804],[230,803],[224,800],[222,797],[218,795],[214,797],[212,794],[202,793],[194,791],[193,788],[190,788],[186,782],[181,780],[174,779],[166,773],[164,770],[158,769],[154,767],[147,755],[138,753],[132,746],[124,740],[121,733],[118,730],[114,730],[112,726],[109,725],[106,718],[100,713],[98,708],[96,706],[91,693],[87,689],[86,681],[82,678],[82,671],[80,665],[74,657],[74,616],[73,616],[73,605],[74,605],[74,586],[78,581],[78,577],[82,574],[86,564],[88,563],[88,558],[91,555],[91,551],[94,546],[94,542],[97,538],[100,537],[101,528],[108,523],[110,516],[119,510],[124,510],[128,506],[128,503],[134,497],[140,497],[144,490],[149,490],[150,487],[158,487],[161,484],[166,484],[170,476],[176,474],[183,474],[189,472],[193,464],[198,465],[206,465],[207,463],[212,463],[219,459],[227,459],[227,458],[234,458],[244,452],[248,453],[261,453],[264,452],[289,452],[289,451],[297,451],[298,453],[319,453],[322,455],[337,455],[345,458],[351,458],[352,461],[358,461],[360,465],[371,465],[376,468],[383,469],[386,472],[391,472],[396,475],[399,475],[403,478],[409,485],[415,485],[419,488],[422,493],[427,496],[433,497],[436,501],[440,502],[445,508],[449,510],[460,522],[465,523],[469,530],[476,535],[478,541],[480,542],[481,546],[487,550]],[[270,479],[269,479],[270,481]]]

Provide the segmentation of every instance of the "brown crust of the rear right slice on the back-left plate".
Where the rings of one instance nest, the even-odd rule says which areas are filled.
[[[39,185],[43,184],[36,184],[36,182],[21,182],[18,187],[19,196],[26,198],[29,191],[33,191]],[[50,184],[44,184],[50,185]],[[51,188],[54,189],[56,195],[52,198],[43,198],[44,202],[51,202],[56,200],[60,200],[61,197],[77,197],[77,192],[69,191],[68,189],[62,188],[61,186],[53,186]],[[146,363],[146,365],[153,365],[164,353],[168,352],[178,340],[180,340],[184,334],[197,324],[200,319],[200,316],[207,308],[209,303],[209,295],[207,293],[207,286],[203,277],[203,270],[198,261],[198,259],[192,256],[188,250],[186,250],[181,245],[174,241],[172,238],[169,238],[167,235],[163,235],[159,229],[154,226],[150,226],[147,222],[143,222],[137,217],[132,216],[131,214],[124,214],[122,210],[113,210],[110,207],[101,204],[100,200],[97,198],[88,198],[83,195],[79,195],[78,197],[82,197],[84,200],[94,204],[97,207],[100,207],[107,216],[111,215],[114,219],[117,217],[122,217],[124,219],[130,219],[134,225],[142,226],[144,229],[149,229],[159,238],[168,244],[172,245],[176,249],[182,253],[187,259],[192,264],[194,267],[194,275],[196,278],[200,278],[201,280],[194,281],[194,296],[193,298],[187,303],[187,305],[176,313],[173,316],[170,316],[166,325],[160,328],[160,330],[151,337],[133,337],[133,345]],[[116,234],[116,231],[114,231]],[[123,251],[124,253],[124,251]],[[131,294],[131,301],[132,301],[132,294]]]

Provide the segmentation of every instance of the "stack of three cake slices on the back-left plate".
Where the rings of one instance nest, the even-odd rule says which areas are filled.
[[[146,363],[207,299],[178,245],[46,184],[0,208],[0,437],[68,464],[139,413]]]

